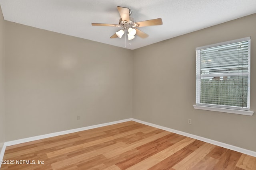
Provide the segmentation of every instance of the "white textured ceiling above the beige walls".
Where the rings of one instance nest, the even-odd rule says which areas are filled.
[[[141,27],[149,35],[136,36],[127,49],[137,49],[219,23],[256,13],[256,0],[0,0],[4,19],[36,28],[98,41],[118,47],[125,38],[110,39],[120,28],[117,6],[130,8],[135,21],[162,18],[163,25]]]

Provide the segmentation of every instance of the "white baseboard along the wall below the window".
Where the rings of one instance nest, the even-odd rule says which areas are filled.
[[[156,124],[153,124],[153,123],[148,123],[148,122],[146,122],[146,121],[141,121],[141,120],[138,120],[138,119],[133,119],[133,118],[132,118],[132,121],[136,121],[136,122],[142,123],[142,124],[144,124],[144,125],[156,127],[156,128],[158,128],[158,129],[163,129],[163,130],[165,130],[165,131],[169,131],[169,132],[172,132],[172,133],[177,133],[177,134],[179,134],[179,135],[183,135],[183,136],[186,136],[186,137],[190,137],[190,138],[193,138],[193,139],[197,139],[197,140],[199,140],[199,141],[207,142],[207,143],[210,143],[210,144],[213,144],[213,145],[217,145],[217,146],[219,146],[219,147],[223,147],[223,148],[226,148],[226,149],[234,150],[234,151],[237,151],[237,152],[241,152],[241,153],[248,154],[248,155],[250,155],[250,156],[256,157],[256,152],[254,152],[254,151],[252,151],[252,150],[243,149],[243,148],[236,147],[236,146],[233,146],[233,145],[229,145],[229,144],[226,144],[226,143],[214,141],[214,140],[212,140],[212,139],[200,137],[200,136],[197,136],[197,135],[192,135],[192,134],[190,134],[190,133],[178,131],[178,130],[175,130],[175,129],[170,129],[170,128],[168,128],[168,127],[156,125]]]

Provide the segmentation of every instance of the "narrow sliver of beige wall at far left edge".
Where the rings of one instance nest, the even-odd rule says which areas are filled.
[[[4,143],[4,18],[0,8],[0,151]]]

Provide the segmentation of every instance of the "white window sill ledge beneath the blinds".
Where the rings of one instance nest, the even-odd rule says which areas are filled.
[[[220,111],[220,112],[234,113],[234,114],[248,115],[248,116],[252,116],[253,113],[254,113],[254,111],[236,110],[236,109],[225,109],[225,108],[208,107],[208,106],[193,105],[193,107],[194,107],[194,109],[210,110],[210,111]]]

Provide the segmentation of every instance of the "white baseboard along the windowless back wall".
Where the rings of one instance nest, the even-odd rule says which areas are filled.
[[[17,144],[20,144],[20,143],[36,141],[36,140],[39,140],[39,139],[45,139],[45,138],[55,137],[55,136],[59,136],[59,135],[66,135],[68,133],[85,131],[85,130],[94,129],[94,128],[97,128],[97,127],[114,125],[114,124],[117,124],[117,123],[123,123],[123,122],[131,121],[131,120],[132,120],[131,118],[130,119],[123,119],[123,120],[119,120],[119,121],[112,121],[112,122],[108,122],[108,123],[102,123],[102,124],[98,124],[98,125],[81,127],[81,128],[77,128],[77,129],[70,129],[70,130],[67,130],[67,131],[60,131],[60,132],[49,133],[49,134],[45,134],[45,135],[39,135],[39,136],[35,136],[35,137],[28,137],[28,138],[18,139],[18,140],[14,140],[14,141],[8,141],[8,142],[4,143],[4,146],[8,147],[8,146],[17,145]]]

